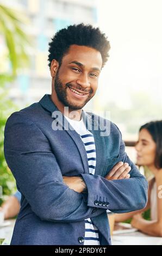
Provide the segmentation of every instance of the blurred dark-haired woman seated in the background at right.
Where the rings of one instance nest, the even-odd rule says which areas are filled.
[[[132,226],[152,236],[162,236],[162,120],[142,125],[135,145],[138,166],[147,166],[153,174],[149,180],[148,203],[145,209],[116,214],[115,221],[132,218]],[[131,191],[130,191],[131,193]],[[151,209],[151,221],[144,220],[142,212]]]

